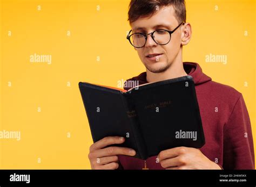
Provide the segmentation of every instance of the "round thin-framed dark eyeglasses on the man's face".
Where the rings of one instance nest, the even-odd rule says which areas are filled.
[[[174,33],[180,25],[184,25],[185,22],[183,21],[179,24],[173,31],[168,31],[165,29],[159,29],[149,34],[144,33],[133,33],[131,34],[132,30],[127,35],[127,40],[130,41],[131,45],[136,48],[142,48],[146,45],[147,42],[147,35],[151,35],[151,38],[156,42],[158,45],[166,45],[171,41],[171,35]],[[130,35],[131,34],[131,35]]]

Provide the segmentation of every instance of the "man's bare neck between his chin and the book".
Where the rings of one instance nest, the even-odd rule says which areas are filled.
[[[147,74],[146,80],[149,83],[186,76],[187,73],[183,68],[181,50],[180,50],[179,54],[177,55],[176,59],[172,62],[169,69],[167,69],[166,71],[164,71],[162,73],[152,73],[151,71],[146,69],[146,74]]]

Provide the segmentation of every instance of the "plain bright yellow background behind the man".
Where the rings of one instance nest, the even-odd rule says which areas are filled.
[[[193,34],[184,61],[198,62],[213,81],[242,93],[256,145],[255,1],[186,4]],[[129,0],[1,1],[0,130],[21,131],[21,140],[0,139],[0,168],[90,169],[92,138],[78,82],[117,87],[145,71],[126,40],[128,5]],[[52,63],[31,63],[35,53],[52,55]],[[227,64],[205,62],[210,53],[227,55]]]

